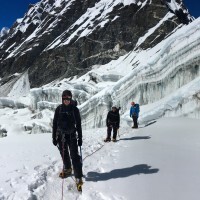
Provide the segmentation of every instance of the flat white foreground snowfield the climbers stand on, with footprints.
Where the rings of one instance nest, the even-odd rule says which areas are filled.
[[[122,127],[118,142],[106,144],[106,128],[84,131],[83,193],[68,178],[63,199],[198,199],[199,124],[163,118],[138,130]],[[0,139],[0,160],[0,199],[61,199],[62,162],[51,134],[25,134],[16,127],[12,136]]]

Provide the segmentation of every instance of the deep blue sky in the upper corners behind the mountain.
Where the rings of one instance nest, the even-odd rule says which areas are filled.
[[[0,3],[0,30],[10,28],[17,18],[21,18],[28,10],[30,3],[40,0],[1,0]],[[200,16],[200,0],[184,0],[186,7],[194,17]]]

